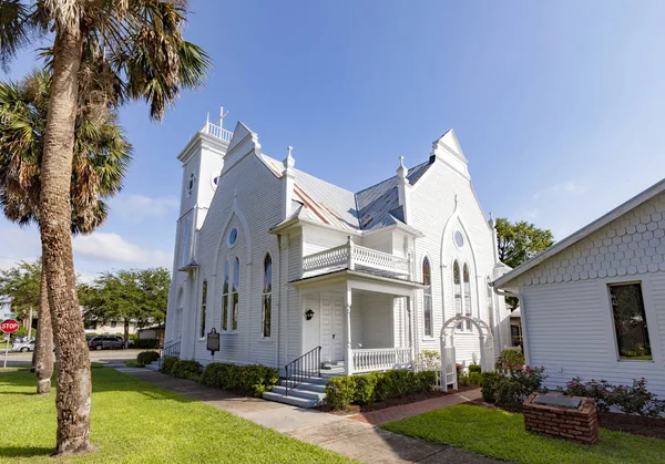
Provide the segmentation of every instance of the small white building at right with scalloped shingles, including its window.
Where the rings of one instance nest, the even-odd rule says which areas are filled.
[[[644,377],[665,398],[665,179],[494,286],[519,293],[526,360],[551,386]]]

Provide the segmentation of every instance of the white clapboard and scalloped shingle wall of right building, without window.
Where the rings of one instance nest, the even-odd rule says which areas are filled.
[[[550,386],[645,377],[665,396],[664,217],[659,194],[519,276],[530,362],[545,367]],[[617,360],[607,286],[620,282],[642,283],[653,362]]]

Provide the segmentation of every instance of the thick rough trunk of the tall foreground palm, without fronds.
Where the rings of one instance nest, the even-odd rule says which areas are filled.
[[[51,322],[60,349],[55,455],[90,448],[90,357],[76,297],[71,239],[70,184],[82,38],[59,31],[41,165],[40,230]]]

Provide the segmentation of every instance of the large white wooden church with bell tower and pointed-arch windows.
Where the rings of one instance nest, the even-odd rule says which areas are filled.
[[[422,350],[440,350],[447,322],[458,363],[480,362],[483,337],[492,364],[510,346],[504,299],[489,285],[509,269],[452,130],[413,167],[396,157],[395,176],[355,193],[297,169],[290,147],[278,161],[245,124],[232,133],[221,121],[178,155],[172,353],[283,373],[315,353],[351,374],[415,367]]]

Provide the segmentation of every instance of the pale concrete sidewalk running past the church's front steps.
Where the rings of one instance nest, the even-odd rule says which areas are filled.
[[[380,430],[368,422],[305,410],[201,385],[146,369],[108,364],[120,372],[366,463],[495,463],[458,448]],[[398,406],[399,408],[399,406]]]

